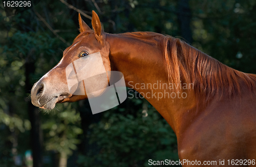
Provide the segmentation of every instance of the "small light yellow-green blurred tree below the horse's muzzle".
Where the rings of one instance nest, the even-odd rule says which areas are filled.
[[[50,112],[48,119],[42,124],[46,134],[45,147],[46,150],[52,150],[59,153],[59,167],[67,166],[67,160],[72,155],[73,150],[76,150],[76,145],[80,143],[77,136],[82,133],[80,126],[80,115],[72,105],[57,105],[61,112]]]

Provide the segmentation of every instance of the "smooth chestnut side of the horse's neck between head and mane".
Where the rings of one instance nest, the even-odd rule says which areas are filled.
[[[110,43],[112,70],[123,73],[126,86],[144,96],[176,131],[182,113],[194,108],[195,102],[191,101],[193,94],[187,94],[186,99],[170,98],[170,90],[163,88],[169,84],[158,45],[112,34],[107,34],[106,40]]]

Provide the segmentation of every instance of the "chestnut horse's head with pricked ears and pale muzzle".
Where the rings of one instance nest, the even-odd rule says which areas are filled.
[[[75,102],[87,99],[88,96],[85,91],[84,94],[80,95],[79,93],[78,95],[74,95],[74,93],[70,91],[66,70],[68,66],[72,66],[72,64],[74,65],[76,60],[86,58],[88,55],[100,53],[102,60],[101,64],[103,63],[102,66],[106,77],[109,79],[107,71],[111,71],[109,59],[110,45],[105,41],[106,34],[101,29],[98,15],[94,11],[92,14],[93,30],[91,30],[90,27],[81,19],[79,14],[78,20],[80,34],[75,38],[73,44],[63,52],[63,57],[59,63],[34,84],[31,90],[31,101],[33,105],[43,109],[53,109],[56,103]],[[91,60],[90,64],[92,64],[92,61],[94,60]],[[95,65],[91,65],[92,68],[98,68],[97,62],[93,62],[93,64]],[[78,69],[75,69],[75,73],[77,73],[77,70]],[[95,69],[87,69],[86,71],[82,71],[82,73],[91,73],[92,76],[94,70]],[[98,80],[98,78],[95,80]],[[106,87],[108,86],[108,81],[101,84],[104,84]]]

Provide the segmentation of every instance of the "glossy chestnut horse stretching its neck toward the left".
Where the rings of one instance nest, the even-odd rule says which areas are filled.
[[[232,69],[174,37],[153,32],[105,33],[94,11],[93,30],[80,14],[79,26],[80,34],[60,62],[34,84],[35,106],[53,109],[56,103],[86,99],[87,95],[69,92],[65,68],[81,56],[100,52],[105,70],[120,71],[126,86],[144,95],[172,127],[179,158],[187,161],[180,164],[199,165],[200,161],[201,165],[233,166],[240,160],[237,164],[253,166],[256,75]],[[160,82],[175,85],[174,89],[141,86]],[[193,88],[177,86],[184,84]],[[170,98],[167,91],[185,94]]]

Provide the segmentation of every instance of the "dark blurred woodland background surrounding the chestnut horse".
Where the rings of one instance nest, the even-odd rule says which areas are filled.
[[[6,17],[0,5],[0,166],[149,166],[178,160],[176,136],[145,99],[127,98],[92,115],[87,100],[40,111],[33,84],[78,32],[78,12],[104,31],[153,31],[179,37],[222,63],[256,73],[256,1],[40,1]],[[87,16],[87,17],[86,17]]]

